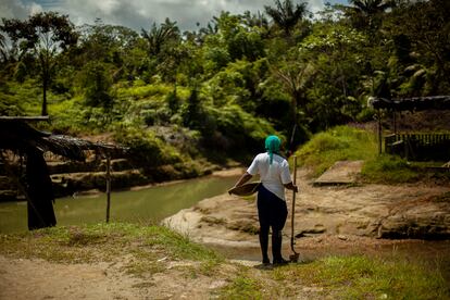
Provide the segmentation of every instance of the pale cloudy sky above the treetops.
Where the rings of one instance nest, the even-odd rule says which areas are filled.
[[[347,0],[308,2],[313,12],[321,10],[324,2],[347,4]],[[58,11],[68,14],[75,25],[92,24],[99,17],[107,24],[140,30],[170,17],[182,29],[196,29],[197,22],[204,26],[221,11],[262,12],[264,5],[274,5],[274,0],[0,0],[0,18],[26,18],[36,12]]]

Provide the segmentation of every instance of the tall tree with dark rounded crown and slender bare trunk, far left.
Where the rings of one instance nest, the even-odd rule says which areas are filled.
[[[78,35],[74,25],[67,15],[43,12],[34,14],[25,21],[3,18],[0,29],[7,33],[13,42],[20,42],[24,51],[30,51],[37,59],[42,83],[41,114],[47,115],[47,89],[55,65],[55,57],[76,43]]]

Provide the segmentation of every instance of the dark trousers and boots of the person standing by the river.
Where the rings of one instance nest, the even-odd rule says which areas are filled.
[[[285,227],[288,211],[286,201],[260,185],[258,190],[258,216],[260,220],[260,245],[263,262],[270,262],[267,255],[268,230],[272,227],[272,255],[274,262],[282,258],[282,230]]]

